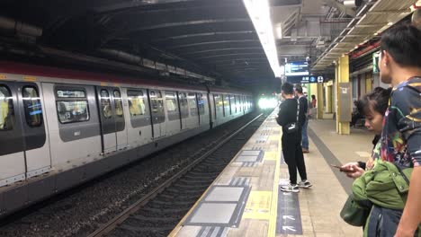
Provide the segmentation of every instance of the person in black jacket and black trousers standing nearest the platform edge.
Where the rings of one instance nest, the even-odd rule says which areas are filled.
[[[282,154],[290,172],[290,184],[281,187],[281,190],[299,192],[299,188],[311,187],[311,183],[307,180],[306,164],[301,149],[301,127],[305,122],[305,111],[298,100],[294,99],[291,83],[283,83],[281,90],[285,101],[280,105],[277,121],[282,126]],[[296,123],[298,129],[291,129],[292,123]],[[300,183],[297,183],[297,168],[301,177]]]

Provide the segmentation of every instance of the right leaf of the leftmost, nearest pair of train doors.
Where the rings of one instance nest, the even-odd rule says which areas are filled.
[[[22,118],[26,177],[31,178],[51,168],[44,110],[36,83],[16,83],[16,87]]]

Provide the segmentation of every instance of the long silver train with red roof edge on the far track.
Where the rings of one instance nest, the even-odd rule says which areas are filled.
[[[241,90],[0,61],[0,217],[254,108]]]

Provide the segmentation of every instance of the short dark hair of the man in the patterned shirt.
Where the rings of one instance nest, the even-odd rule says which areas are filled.
[[[383,50],[400,66],[421,67],[421,31],[408,24],[392,27],[381,36]]]

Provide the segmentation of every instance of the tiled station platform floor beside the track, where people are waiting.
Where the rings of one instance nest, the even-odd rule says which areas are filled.
[[[313,187],[284,193],[280,188],[289,175],[276,114],[266,118],[169,236],[363,236],[362,228],[339,216],[353,180],[330,164],[365,161],[372,134],[352,128],[352,135],[341,136],[335,120],[309,120],[310,153],[304,157]]]

